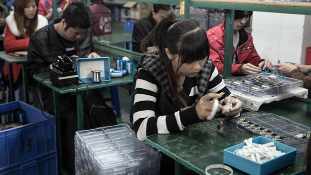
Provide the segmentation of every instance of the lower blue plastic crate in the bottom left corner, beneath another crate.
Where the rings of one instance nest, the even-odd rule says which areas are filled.
[[[56,151],[4,170],[0,175],[57,175]]]

